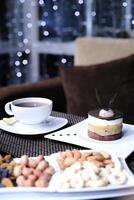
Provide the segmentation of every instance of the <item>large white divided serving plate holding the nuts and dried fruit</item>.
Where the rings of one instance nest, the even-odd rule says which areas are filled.
[[[88,150],[89,151],[89,150]],[[4,199],[29,199],[32,196],[32,200],[38,198],[49,198],[52,199],[71,199],[71,200],[79,200],[79,199],[101,199],[101,198],[110,198],[110,197],[120,197],[125,195],[133,195],[134,194],[134,176],[129,171],[127,165],[124,163],[124,160],[118,159],[115,154],[111,154],[112,159],[116,164],[122,165],[125,170],[127,181],[123,185],[113,186],[108,185],[105,187],[98,188],[79,188],[79,189],[60,189],[56,188],[57,185],[56,176],[60,172],[60,168],[56,161],[56,157],[58,153],[52,154],[50,156],[46,156],[46,160],[49,162],[51,166],[55,168],[55,175],[52,177],[50,184],[47,188],[37,188],[37,187],[13,187],[13,188],[0,188],[0,197]],[[16,158],[16,161],[19,158]],[[123,162],[122,162],[123,161]]]

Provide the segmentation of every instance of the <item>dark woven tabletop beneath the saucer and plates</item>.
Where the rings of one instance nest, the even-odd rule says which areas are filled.
[[[64,117],[68,119],[68,124],[64,126],[64,128],[69,127],[85,119],[84,117],[54,111],[52,112],[52,116]],[[66,149],[86,148],[44,138],[44,134],[32,136],[18,135],[14,133],[9,133],[4,130],[0,130],[0,151],[2,153],[11,154],[14,157],[21,157],[21,155],[24,154],[27,154],[28,156],[38,156],[40,154],[50,155],[52,153],[64,151]],[[134,152],[127,158],[126,161],[129,168],[134,173]],[[130,196],[130,198],[122,197],[117,199],[126,200],[131,198],[134,198],[134,196]]]

